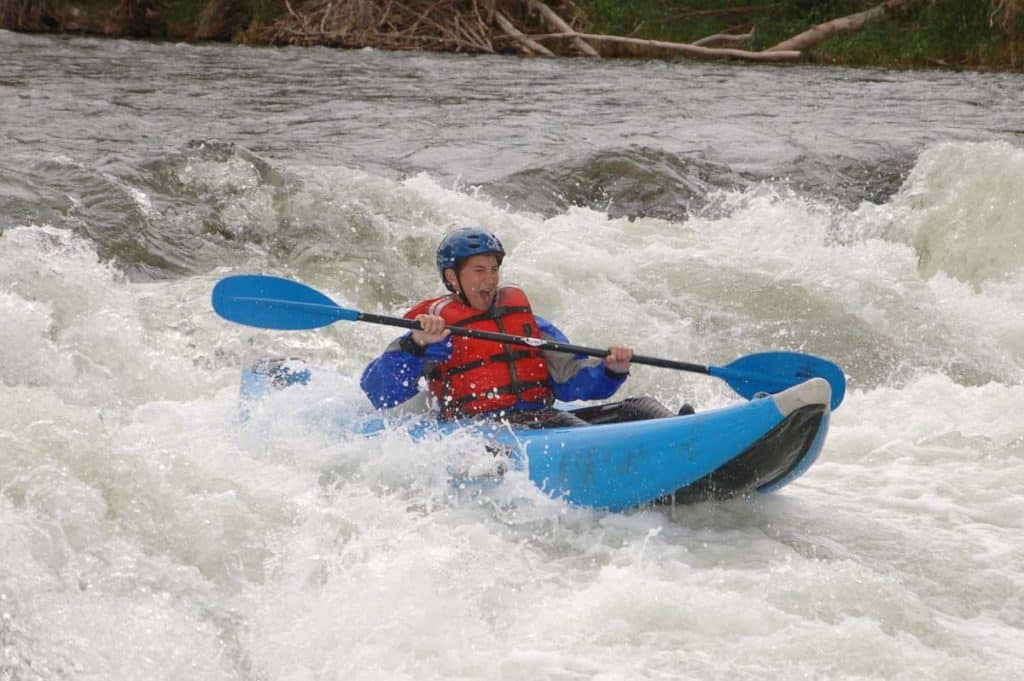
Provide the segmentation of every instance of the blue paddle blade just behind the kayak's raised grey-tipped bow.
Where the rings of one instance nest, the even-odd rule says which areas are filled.
[[[800,352],[759,352],[749,354],[725,367],[709,367],[709,374],[726,381],[732,389],[752,399],[759,394],[774,394],[820,377],[831,386],[831,409],[846,396],[846,376],[837,365],[821,357]]]

